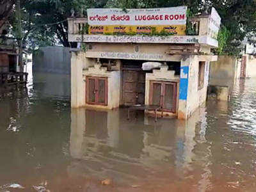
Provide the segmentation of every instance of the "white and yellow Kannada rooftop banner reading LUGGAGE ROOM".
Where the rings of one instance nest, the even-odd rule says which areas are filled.
[[[186,6],[152,9],[88,9],[89,34],[185,35]]]

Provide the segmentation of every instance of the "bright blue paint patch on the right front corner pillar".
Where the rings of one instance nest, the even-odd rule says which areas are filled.
[[[188,98],[188,72],[189,67],[180,67],[180,93],[179,99],[187,100]]]

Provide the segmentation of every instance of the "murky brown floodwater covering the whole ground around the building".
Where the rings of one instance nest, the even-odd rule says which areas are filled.
[[[188,122],[154,123],[71,110],[66,91],[30,81],[28,94],[0,99],[0,191],[256,191],[255,83],[237,82],[229,104],[208,102]]]

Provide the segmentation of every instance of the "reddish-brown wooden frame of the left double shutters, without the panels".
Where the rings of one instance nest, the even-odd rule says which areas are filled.
[[[95,102],[89,101],[89,79],[94,79],[95,83]],[[99,80],[105,81],[105,93],[104,93],[104,103],[99,102]],[[98,76],[86,76],[85,83],[85,102],[86,104],[108,106],[108,77],[98,77]]]

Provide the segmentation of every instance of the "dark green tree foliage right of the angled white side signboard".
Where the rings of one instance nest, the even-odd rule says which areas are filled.
[[[256,35],[256,1],[255,0],[205,0],[208,6],[214,6],[225,26],[224,36],[227,42],[221,54],[238,55],[241,42],[245,37]],[[222,31],[223,32],[223,31]]]

